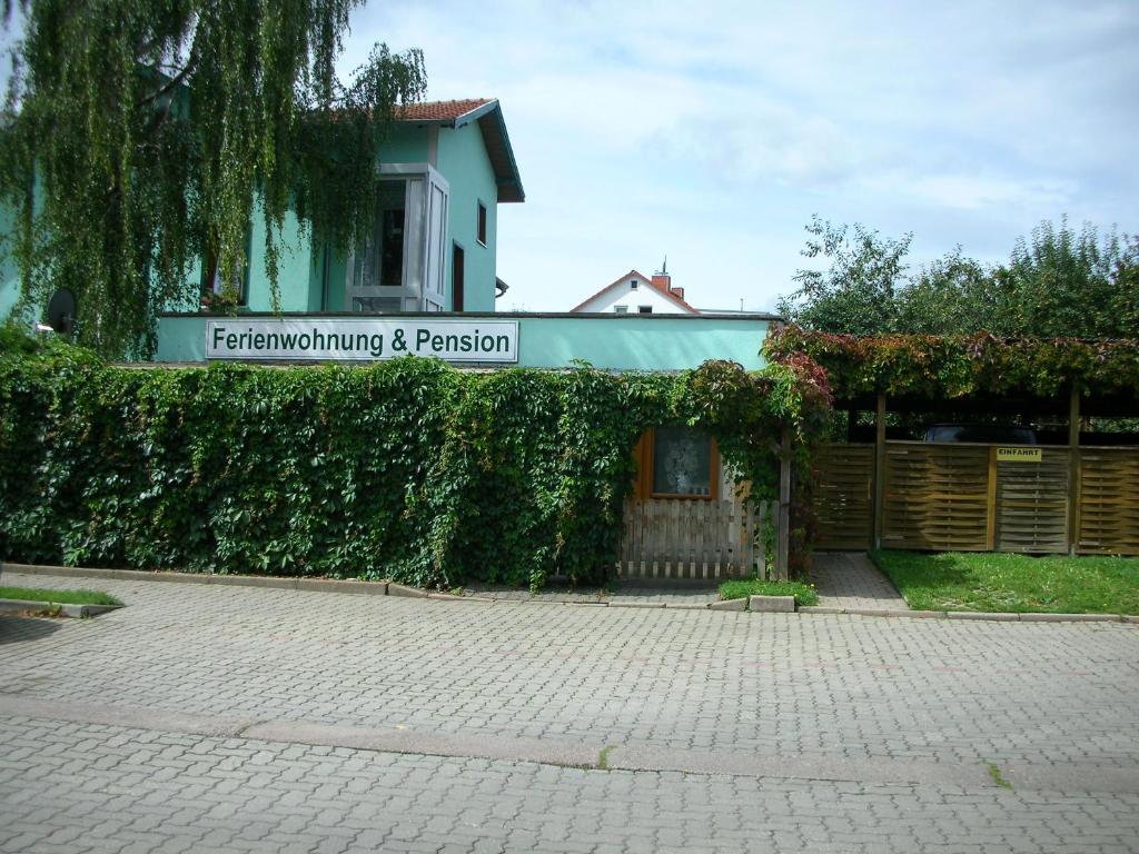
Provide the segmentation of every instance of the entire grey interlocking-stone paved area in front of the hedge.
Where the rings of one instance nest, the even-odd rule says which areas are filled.
[[[0,617],[0,851],[1139,851],[1133,625],[97,585]]]

